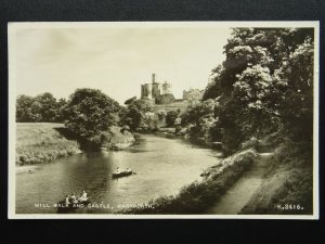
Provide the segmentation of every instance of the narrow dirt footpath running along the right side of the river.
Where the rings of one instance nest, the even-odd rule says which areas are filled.
[[[266,170],[266,159],[270,156],[272,156],[272,153],[260,153],[251,168],[227,190],[214,206],[208,209],[207,214],[238,214],[262,183]]]

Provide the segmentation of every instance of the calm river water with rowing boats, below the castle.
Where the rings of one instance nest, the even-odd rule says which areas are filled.
[[[16,175],[16,213],[56,213],[54,203],[82,190],[91,196],[91,203],[104,203],[106,208],[84,207],[74,213],[112,213],[109,207],[145,204],[199,180],[205,168],[218,164],[217,155],[181,139],[141,136],[125,151],[64,157],[37,167],[34,174]],[[130,167],[136,175],[112,179],[117,166]],[[36,207],[37,203],[48,205]]]

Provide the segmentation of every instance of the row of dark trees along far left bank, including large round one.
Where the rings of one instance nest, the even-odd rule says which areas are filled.
[[[160,120],[164,118],[160,116]],[[155,131],[158,120],[151,101],[132,98],[121,106],[98,89],[77,89],[67,101],[56,100],[49,92],[16,100],[17,123],[64,123],[83,149],[107,145],[112,126],[120,126],[121,131],[146,132]]]

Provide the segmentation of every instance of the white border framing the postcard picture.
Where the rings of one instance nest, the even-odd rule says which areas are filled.
[[[120,28],[120,27],[312,27],[314,28],[314,121],[313,121],[313,215],[57,215],[57,214],[15,214],[15,33],[20,28]],[[320,105],[320,22],[24,22],[8,24],[8,66],[9,66],[9,167],[8,167],[8,218],[9,219],[291,219],[316,220],[320,218],[318,180],[318,105]]]

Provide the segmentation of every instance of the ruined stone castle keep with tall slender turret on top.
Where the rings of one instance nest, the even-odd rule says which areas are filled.
[[[153,74],[151,84],[141,85],[141,99],[152,100],[155,104],[168,104],[176,101],[171,92],[171,84],[157,82],[156,74]]]

